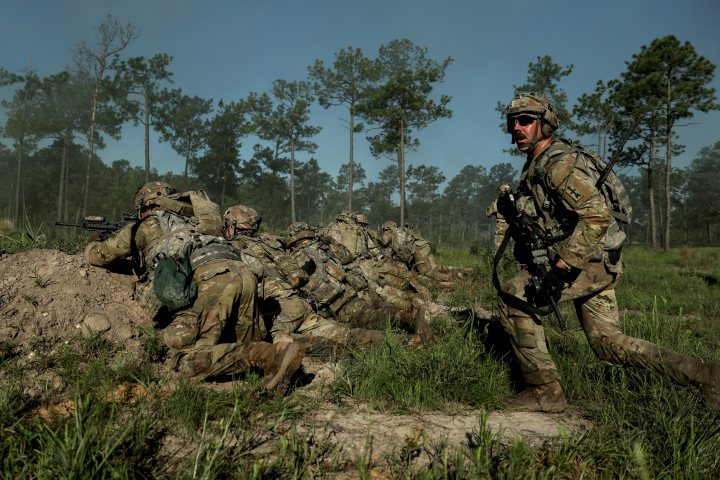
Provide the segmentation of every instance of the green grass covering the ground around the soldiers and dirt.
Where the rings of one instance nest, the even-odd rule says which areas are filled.
[[[43,245],[53,245],[51,235]],[[31,248],[25,238],[22,248]],[[8,241],[0,241],[7,248]],[[32,242],[39,244],[37,234]],[[64,245],[80,251],[83,240],[75,242],[77,247]],[[473,269],[457,283],[448,304],[494,309],[492,253],[478,253],[438,252],[442,263]],[[628,268],[617,291],[625,333],[702,360],[720,360],[720,249],[665,254],[633,248],[624,256]],[[509,255],[501,265],[505,280],[519,268]],[[419,432],[394,452],[359,462],[342,458],[327,432],[301,434],[292,427],[279,432],[280,422],[292,423],[316,407],[298,392],[270,397],[252,374],[221,391],[198,382],[169,382],[153,363],[164,354],[153,332],[141,338],[142,358],[94,333],[78,335],[69,345],[33,339],[32,361],[13,341],[0,341],[0,480],[332,478],[341,470],[373,478],[373,469],[391,478],[422,479],[720,478],[718,410],[695,388],[599,361],[573,309],[564,306],[563,312],[568,331],[561,332],[552,317],[544,319],[549,348],[569,403],[595,425],[589,432],[531,448],[519,439],[503,441],[481,415],[473,448],[450,450],[442,442],[426,442]],[[375,349],[345,352],[338,359],[341,374],[324,400],[357,400],[397,414],[501,409],[501,399],[515,387],[517,365],[497,323],[437,319],[432,327],[435,345],[409,351],[391,339]],[[58,389],[27,389],[30,378],[50,374],[59,379]],[[134,402],[108,402],[108,392],[120,385],[140,385],[150,394]],[[38,417],[39,407],[62,400],[78,406],[72,415]],[[174,473],[163,473],[159,453],[168,435],[199,447]],[[278,441],[259,453],[256,448],[268,436]],[[412,458],[421,449],[434,460],[417,467]]]

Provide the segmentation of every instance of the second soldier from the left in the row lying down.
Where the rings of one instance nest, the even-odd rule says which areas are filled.
[[[360,346],[382,340],[381,332],[348,329],[313,311],[297,291],[310,280],[308,274],[285,253],[275,237],[257,235],[261,219],[254,209],[242,205],[230,207],[225,212],[225,222],[226,236],[241,250],[243,262],[258,279],[260,308],[264,316],[272,319],[273,341],[295,340],[315,346],[317,350],[331,348],[335,343]]]

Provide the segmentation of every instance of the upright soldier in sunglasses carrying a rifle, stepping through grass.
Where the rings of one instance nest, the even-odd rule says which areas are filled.
[[[555,107],[542,94],[516,95],[507,107],[507,131],[527,161],[513,197],[517,207],[508,205],[507,188],[501,188],[506,194],[498,207],[512,225],[516,241],[520,232],[513,218],[529,218],[529,228],[541,237],[545,252],[541,255],[541,250],[529,251],[516,243],[515,256],[524,268],[498,292],[502,324],[528,384],[508,399],[509,405],[545,412],[567,408],[543,327],[526,313],[536,308],[527,303],[526,292],[532,291],[528,265],[533,259],[538,265],[539,258],[547,260],[547,265],[540,267],[548,271],[545,290],[562,292],[558,294],[560,302],[573,301],[598,358],[668,375],[680,385],[694,384],[711,403],[719,403],[720,364],[700,362],[623,335],[615,285],[623,268],[624,235],[613,220],[623,218],[622,212],[611,212],[605,194],[595,187],[598,168],[589,154],[569,141],[552,137],[558,126]],[[529,299],[531,303],[536,300]]]

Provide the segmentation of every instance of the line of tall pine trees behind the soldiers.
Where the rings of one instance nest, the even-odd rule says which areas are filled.
[[[122,58],[139,35],[132,23],[108,15],[93,40],[71,47],[73,62],[63,72],[41,78],[32,64],[20,72],[0,68],[0,86],[15,88],[2,103],[8,117],[2,135],[11,143],[0,146],[7,173],[0,178],[0,216],[16,225],[86,214],[118,219],[132,209],[139,185],[165,180],[183,190],[204,188],[221,208],[251,205],[276,229],[297,220],[327,223],[347,208],[365,211],[372,224],[413,222],[440,245],[489,241],[492,220],[484,211],[498,185],[517,180],[510,163],[489,170],[467,165],[447,179],[438,167],[405,161],[408,150],[420,147],[417,131],[452,117],[451,98],[436,92],[452,58],[430,59],[426,48],[407,39],[383,45],[376,58],[348,47],[331,64],[310,65],[306,79],[278,79],[268,92],[215,103],[174,88],[168,54]],[[574,67],[550,56],[530,63],[526,83],[514,89],[547,95],[558,108],[558,135],[581,137],[605,159],[640,117],[618,162],[620,169],[635,167],[635,175],[623,176],[635,207],[631,239],[655,248],[659,238],[666,249],[671,233],[673,242],[714,242],[720,192],[709,179],[720,171],[720,144],[703,148],[685,169],[673,167],[672,159],[685,148],[675,130],[695,112],[720,108],[708,87],[715,66],[672,35],[641,47],[626,64],[620,78],[598,81],[572,110],[559,83]],[[315,158],[296,157],[319,149],[313,137],[321,127],[310,119],[316,101],[346,112],[349,155],[337,173],[323,172]],[[498,110],[504,130],[500,102]],[[144,129],[144,165],[105,163],[97,151],[128,122]],[[183,159],[180,173],[152,167],[151,132]],[[390,160],[375,181],[354,161],[355,134],[364,135],[374,157]],[[252,157],[243,159],[246,139],[256,143]]]

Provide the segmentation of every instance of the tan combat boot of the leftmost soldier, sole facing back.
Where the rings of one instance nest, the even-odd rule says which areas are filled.
[[[305,346],[297,342],[256,344],[248,352],[250,364],[263,370],[263,387],[276,395],[287,391],[304,356]]]

